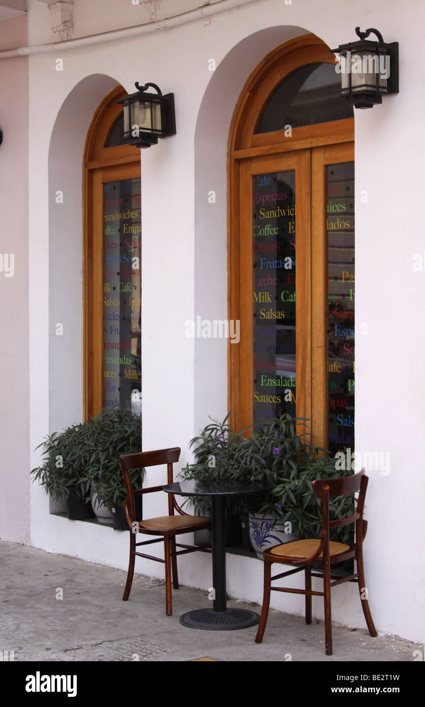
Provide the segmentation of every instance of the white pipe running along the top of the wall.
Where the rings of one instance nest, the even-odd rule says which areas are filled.
[[[173,17],[158,20],[158,22],[149,22],[144,25],[136,25],[135,27],[126,27],[123,30],[112,30],[98,35],[88,35],[88,37],[80,37],[76,40],[66,40],[64,42],[53,42],[52,44],[34,45],[33,47],[18,47],[16,49],[5,49],[0,52],[0,59],[11,59],[11,57],[28,57],[30,54],[45,54],[47,52],[63,51],[64,49],[74,49],[76,47],[87,47],[89,45],[101,44],[102,42],[114,42],[115,40],[127,39],[128,37],[137,37],[139,35],[147,35],[158,30],[169,30],[179,25],[202,18],[217,15],[226,10],[249,5],[252,2],[260,0],[219,0],[212,5],[204,5],[196,10],[181,13]]]

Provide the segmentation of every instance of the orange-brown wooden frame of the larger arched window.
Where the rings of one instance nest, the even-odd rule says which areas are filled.
[[[315,35],[303,35],[277,47],[252,72],[233,114],[228,139],[228,317],[240,320],[240,345],[228,343],[228,409],[232,410],[231,423],[238,431],[253,422],[252,174],[261,173],[261,169],[274,171],[277,159],[289,163],[291,158],[291,164],[297,165],[299,172],[308,175],[309,184],[315,185],[310,194],[304,193],[296,176],[296,415],[310,419],[315,443],[326,447],[323,165],[354,159],[354,119],[298,127],[291,136],[285,136],[284,129],[255,134],[262,111],[277,86],[296,69],[315,62],[337,64],[330,48]],[[314,182],[310,181],[313,173]],[[299,223],[303,224],[303,238],[298,238]],[[311,233],[315,233],[315,238],[311,238]]]

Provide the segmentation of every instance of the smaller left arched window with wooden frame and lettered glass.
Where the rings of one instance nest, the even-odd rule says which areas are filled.
[[[122,144],[122,86],[98,107],[84,154],[84,414],[141,414],[140,151]]]

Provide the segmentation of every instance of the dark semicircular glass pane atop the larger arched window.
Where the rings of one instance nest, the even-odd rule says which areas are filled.
[[[341,74],[337,74],[334,64],[307,64],[293,71],[274,90],[255,133],[353,116],[353,107],[341,95]]]

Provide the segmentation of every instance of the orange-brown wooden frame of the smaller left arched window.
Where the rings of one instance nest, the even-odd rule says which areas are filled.
[[[83,157],[83,413],[103,406],[103,183],[140,177],[140,150],[105,143],[127,95],[116,86],[100,103],[88,129]]]

